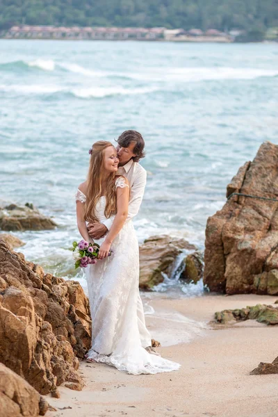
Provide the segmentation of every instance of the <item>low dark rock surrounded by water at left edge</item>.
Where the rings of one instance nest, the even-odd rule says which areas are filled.
[[[25,206],[10,204],[0,208],[0,229],[24,231],[24,230],[49,230],[57,224],[51,218],[42,215],[33,204]]]

